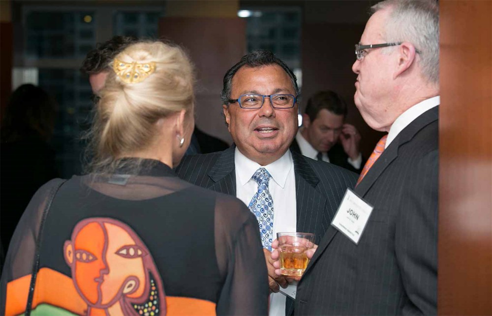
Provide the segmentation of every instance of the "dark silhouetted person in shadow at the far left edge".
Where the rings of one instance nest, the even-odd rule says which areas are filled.
[[[1,243],[7,252],[14,230],[36,190],[59,176],[49,144],[58,105],[31,84],[12,92],[1,125]]]

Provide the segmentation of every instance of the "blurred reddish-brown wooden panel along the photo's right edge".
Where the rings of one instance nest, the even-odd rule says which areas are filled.
[[[440,1],[440,315],[492,314],[492,2]]]

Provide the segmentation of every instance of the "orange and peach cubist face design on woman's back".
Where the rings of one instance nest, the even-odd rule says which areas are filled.
[[[149,271],[158,278],[154,261],[140,238],[122,222],[108,218],[79,222],[71,240],[65,242],[64,255],[77,291],[91,307],[108,308],[122,296],[139,303],[152,296]],[[162,287],[159,292],[163,295]]]

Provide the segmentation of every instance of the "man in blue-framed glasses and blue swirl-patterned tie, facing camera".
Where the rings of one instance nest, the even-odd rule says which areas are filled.
[[[196,185],[234,195],[257,216],[269,284],[277,292],[270,257],[278,231],[315,233],[330,225],[347,187],[357,175],[291,152],[298,129],[296,76],[271,52],[244,56],[224,76],[223,113],[235,146],[219,153],[185,156],[178,175]],[[265,280],[267,281],[267,280]],[[270,315],[290,315],[293,300],[270,297]]]

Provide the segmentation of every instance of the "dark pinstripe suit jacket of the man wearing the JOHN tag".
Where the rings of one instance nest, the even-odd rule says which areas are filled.
[[[411,122],[356,187],[374,206],[358,245],[334,227],[297,289],[299,315],[436,315],[438,107]]]

